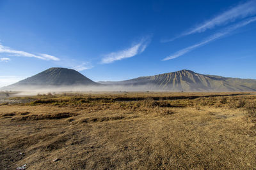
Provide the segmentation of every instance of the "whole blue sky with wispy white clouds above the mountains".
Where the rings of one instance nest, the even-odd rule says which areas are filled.
[[[0,0],[0,87],[49,67],[94,81],[191,69],[256,79],[256,0]]]

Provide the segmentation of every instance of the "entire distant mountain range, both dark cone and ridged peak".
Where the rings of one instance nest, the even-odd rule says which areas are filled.
[[[227,78],[199,74],[183,69],[172,73],[164,73],[155,76],[142,76],[125,81],[99,81],[94,82],[74,69],[52,67],[26,78],[13,85],[3,87],[1,90],[20,89],[46,89],[47,87],[91,87],[93,90],[134,90],[134,91],[255,91],[256,80]],[[29,89],[28,89],[29,90]],[[67,90],[67,89],[66,89]],[[86,89],[90,90],[90,89]]]

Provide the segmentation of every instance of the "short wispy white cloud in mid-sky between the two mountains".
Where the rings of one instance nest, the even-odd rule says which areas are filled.
[[[130,57],[134,57],[138,55],[147,48],[148,44],[150,43],[150,38],[143,38],[139,43],[132,45],[130,48],[120,50],[118,52],[111,52],[107,55],[104,55],[102,59],[102,64],[108,64],[114,62],[116,60],[127,59]]]

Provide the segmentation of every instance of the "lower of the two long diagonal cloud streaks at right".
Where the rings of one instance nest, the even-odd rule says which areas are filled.
[[[209,38],[205,39],[204,41],[200,42],[200,43],[197,43],[195,45],[192,45],[192,46],[188,46],[187,48],[184,48],[182,50],[179,50],[178,52],[174,53],[173,55],[170,55],[166,58],[164,58],[163,60],[170,60],[170,59],[175,59],[177,57],[180,57],[181,55],[184,55],[185,53],[188,53],[190,52],[191,50],[194,50],[195,48],[198,48],[199,46],[202,46],[202,45],[205,45],[211,41],[214,41],[218,38],[221,38],[223,36],[226,36],[227,34],[230,34],[230,32],[240,28],[240,27],[243,27],[245,25],[248,25],[252,22],[255,22],[256,21],[256,17],[252,17],[252,18],[249,18],[247,20],[243,20],[242,22],[239,22],[238,24],[235,24],[235,25],[232,25],[230,27],[228,27],[227,29],[223,30],[223,31],[220,31],[220,32],[217,32],[216,34],[213,34],[212,36],[209,36]]]

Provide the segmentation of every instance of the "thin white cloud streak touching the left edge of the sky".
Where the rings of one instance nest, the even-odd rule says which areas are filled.
[[[45,53],[41,53],[40,55],[35,55],[33,53],[28,53],[28,52],[23,52],[23,51],[19,51],[19,50],[13,50],[12,48],[8,47],[8,46],[3,46],[0,44],[0,53],[9,53],[11,55],[15,55],[15,56],[22,56],[22,57],[34,57],[37,59],[42,59],[42,60],[60,60],[57,57],[54,57],[52,55],[48,55]]]

